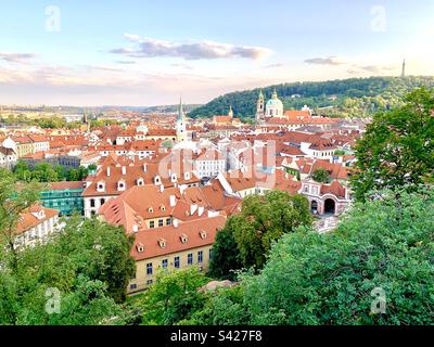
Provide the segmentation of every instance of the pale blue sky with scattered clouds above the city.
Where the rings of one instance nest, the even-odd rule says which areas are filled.
[[[0,0],[0,104],[206,103],[273,83],[434,75],[432,0]]]

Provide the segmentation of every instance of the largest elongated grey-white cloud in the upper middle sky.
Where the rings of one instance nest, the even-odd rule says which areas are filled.
[[[114,49],[111,53],[124,54],[131,57],[174,56],[186,60],[213,60],[243,57],[260,60],[272,52],[263,47],[234,46],[214,41],[170,42],[152,38],[141,38],[138,35],[125,34],[127,40],[136,43],[136,48]]]

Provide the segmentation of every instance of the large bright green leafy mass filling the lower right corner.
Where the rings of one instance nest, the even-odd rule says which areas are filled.
[[[242,280],[251,324],[434,323],[434,191],[375,196],[332,233],[277,243],[261,273]],[[385,311],[372,312],[381,293]]]

